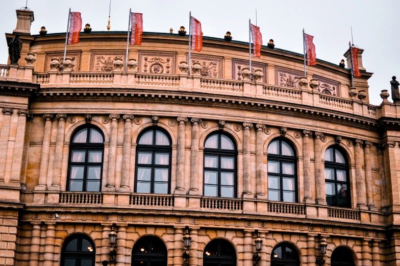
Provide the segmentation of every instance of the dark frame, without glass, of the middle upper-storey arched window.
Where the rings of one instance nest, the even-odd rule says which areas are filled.
[[[229,134],[226,134],[224,132],[211,132],[206,139],[204,140],[204,147],[206,147],[206,142],[207,140],[214,136],[218,135],[218,148],[213,149],[213,148],[204,148],[203,150],[203,196],[205,194],[205,187],[206,187],[206,171],[213,171],[213,172],[218,172],[217,174],[217,196],[216,197],[221,197],[221,172],[229,172],[233,173],[233,180],[234,180],[234,188],[233,188],[233,198],[237,198],[237,156],[238,156],[238,150],[236,147],[236,142],[231,137]],[[222,150],[221,149],[221,136],[224,135],[228,137],[234,146],[234,150]],[[212,168],[212,167],[205,167],[205,162],[206,162],[206,156],[215,156],[218,157],[217,159],[217,167]],[[233,157],[234,158],[234,168],[233,169],[224,169],[221,168],[221,157]],[[205,197],[211,197],[211,196],[205,196]],[[232,198],[232,199],[233,199]],[[230,198],[231,199],[231,198]]]

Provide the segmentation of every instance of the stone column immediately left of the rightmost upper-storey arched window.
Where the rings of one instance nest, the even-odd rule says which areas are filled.
[[[319,205],[326,205],[325,201],[325,188],[322,187],[322,175],[321,175],[321,137],[322,132],[315,132],[314,139],[314,164],[315,164],[315,186],[316,186],[316,203]]]

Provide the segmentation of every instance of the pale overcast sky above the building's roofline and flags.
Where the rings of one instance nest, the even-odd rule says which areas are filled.
[[[31,33],[41,26],[48,33],[65,32],[68,8],[82,13],[83,25],[93,31],[107,30],[110,0],[28,0],[35,21]],[[26,0],[3,0],[0,9],[2,31],[11,33],[16,26],[15,9]],[[256,7],[257,6],[257,7]],[[369,79],[369,97],[379,105],[382,89],[390,92],[391,77],[400,80],[400,1],[238,1],[238,0],[111,0],[111,31],[126,31],[129,8],[143,13],[143,29],[149,32],[176,33],[180,26],[188,29],[189,11],[202,22],[205,36],[223,38],[227,31],[234,40],[248,41],[248,19],[256,22],[264,45],[273,39],[276,47],[303,53],[302,29],[314,36],[317,58],[338,64],[344,59],[353,27],[354,44],[365,49],[363,65],[373,72]],[[6,38],[0,41],[0,63],[8,57]]]

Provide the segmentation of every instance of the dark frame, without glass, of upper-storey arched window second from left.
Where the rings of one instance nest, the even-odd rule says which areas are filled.
[[[148,131],[153,130],[153,144],[139,144],[140,138],[147,133]],[[156,145],[156,132],[161,131],[164,133],[168,140],[169,140],[169,146],[164,146],[164,145]],[[156,183],[154,180],[154,175],[155,175],[155,168],[168,168],[168,191],[165,195],[171,194],[171,172],[172,172],[172,139],[169,135],[169,133],[164,130],[163,128],[160,127],[149,127],[140,132],[137,141],[136,141],[136,158],[135,158],[135,185],[134,185],[134,192],[137,192],[137,173],[138,173],[138,167],[148,167],[152,168],[151,170],[151,181],[150,181],[150,193],[148,194],[155,194],[154,193],[154,184]],[[139,152],[147,152],[147,153],[152,153],[152,163],[151,164],[139,164],[138,163],[138,155]],[[160,164],[155,164],[156,160],[156,153],[168,153],[168,165],[160,165]],[[142,192],[139,192],[142,193]],[[164,194],[163,194],[164,195]]]

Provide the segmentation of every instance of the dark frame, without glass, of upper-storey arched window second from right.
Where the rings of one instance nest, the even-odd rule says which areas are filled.
[[[279,202],[284,202],[283,201],[283,192],[284,191],[291,191],[291,190],[284,190],[283,189],[283,177],[294,178],[294,197],[295,197],[295,201],[293,203],[297,203],[298,202],[298,184],[297,184],[298,175],[297,175],[297,154],[296,154],[296,149],[294,149],[293,144],[286,138],[274,138],[269,142],[269,144],[274,142],[274,141],[276,141],[276,140],[279,141],[279,155],[268,153],[268,155],[267,155],[267,164],[268,164],[269,161],[279,162],[279,173],[267,172],[267,180],[268,180],[268,176],[279,177],[279,181],[280,181],[279,193],[280,193],[280,197],[281,197],[281,200]],[[289,145],[289,147],[292,149],[293,156],[282,155],[282,141],[286,142]],[[268,147],[269,147],[269,144],[268,144]],[[268,148],[267,148],[267,150],[268,150]],[[294,175],[283,174],[283,171],[282,171],[282,164],[283,163],[292,163],[292,164],[294,164]],[[268,171],[269,171],[269,168],[268,168]],[[269,188],[267,188],[267,189],[268,189],[268,192],[269,192]],[[271,188],[271,190],[277,191],[278,189]]]

